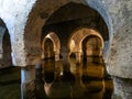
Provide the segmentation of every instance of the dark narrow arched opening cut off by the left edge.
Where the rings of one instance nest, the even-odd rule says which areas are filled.
[[[0,68],[12,66],[11,38],[6,23],[0,19]]]

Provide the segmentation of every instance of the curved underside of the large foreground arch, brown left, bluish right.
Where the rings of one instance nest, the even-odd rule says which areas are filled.
[[[108,47],[106,48],[105,56],[108,56],[107,51],[109,51],[110,42],[112,40],[112,22],[107,11],[107,7],[102,3],[101,0],[36,0],[35,4],[33,6],[29,19],[26,21],[25,31],[24,31],[24,45],[25,51],[29,54],[25,58],[26,64],[34,64],[40,61],[41,56],[41,33],[42,28],[45,25],[47,19],[61,7],[69,3],[82,3],[85,6],[89,6],[90,8],[98,11],[101,16],[105,19],[108,30],[110,41],[107,43]],[[36,25],[37,24],[37,25]],[[32,41],[34,40],[34,41]],[[32,43],[30,42],[32,41]],[[31,51],[32,50],[32,51]],[[35,52],[35,53],[32,53]]]

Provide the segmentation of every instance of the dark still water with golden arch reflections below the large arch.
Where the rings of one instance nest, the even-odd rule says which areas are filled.
[[[72,57],[65,64],[45,59],[40,75],[43,87],[37,80],[36,88],[43,89],[43,94],[37,94],[38,99],[42,95],[44,99],[111,99],[113,91],[101,57],[87,57],[81,63]]]

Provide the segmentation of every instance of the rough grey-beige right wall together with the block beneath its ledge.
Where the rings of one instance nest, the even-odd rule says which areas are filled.
[[[113,24],[113,40],[107,70],[113,76],[113,99],[131,99],[132,0],[106,0]]]

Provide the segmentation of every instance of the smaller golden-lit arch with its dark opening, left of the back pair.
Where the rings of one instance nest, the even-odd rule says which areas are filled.
[[[58,36],[51,32],[42,41],[42,58],[54,57],[55,61],[59,59],[61,42]]]

